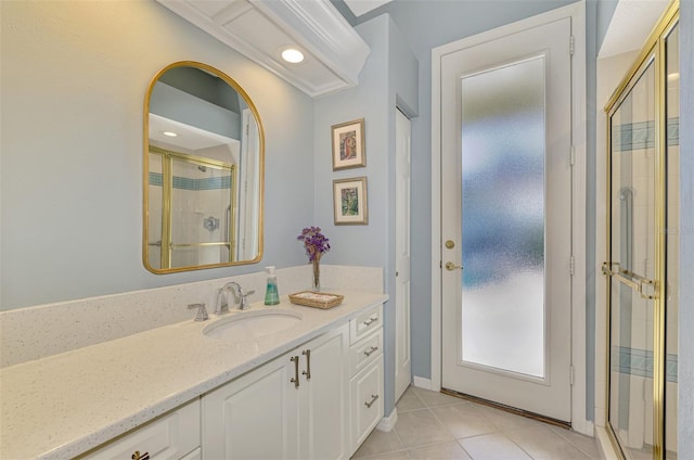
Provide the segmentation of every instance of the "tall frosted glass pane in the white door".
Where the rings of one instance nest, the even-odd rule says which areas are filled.
[[[544,376],[544,56],[462,78],[463,361]]]

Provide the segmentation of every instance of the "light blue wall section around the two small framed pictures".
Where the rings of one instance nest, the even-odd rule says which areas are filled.
[[[417,62],[387,15],[357,27],[371,47],[359,86],[314,102],[316,220],[331,240],[325,263],[384,267],[385,410],[395,406],[395,110],[417,111]],[[332,170],[331,126],[364,118],[367,166]],[[333,180],[367,176],[369,225],[333,223]]]

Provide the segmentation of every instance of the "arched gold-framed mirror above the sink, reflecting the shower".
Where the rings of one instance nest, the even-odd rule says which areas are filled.
[[[170,64],[145,95],[143,137],[146,269],[259,261],[265,137],[243,88],[206,64]]]

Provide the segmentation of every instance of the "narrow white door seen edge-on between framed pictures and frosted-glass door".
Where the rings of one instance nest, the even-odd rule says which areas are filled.
[[[410,139],[411,124],[396,110],[396,348],[395,399],[412,381],[410,361]]]

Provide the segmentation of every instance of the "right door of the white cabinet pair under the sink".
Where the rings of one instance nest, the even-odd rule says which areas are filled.
[[[348,433],[347,341],[345,324],[299,347],[303,372],[310,363],[310,380],[301,375],[300,458],[340,459],[346,453]],[[306,352],[310,350],[310,355]],[[308,359],[310,356],[310,360]]]

